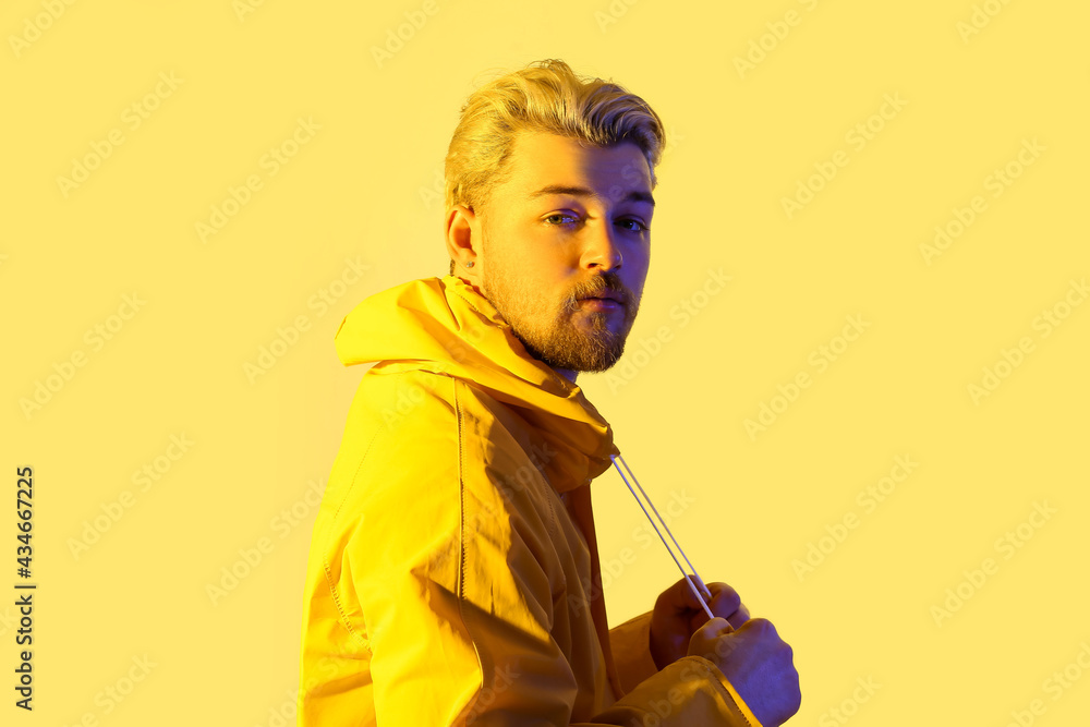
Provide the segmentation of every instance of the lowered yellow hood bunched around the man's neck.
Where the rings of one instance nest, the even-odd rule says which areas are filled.
[[[371,295],[344,316],[335,341],[346,366],[453,376],[519,410],[555,452],[543,469],[557,492],[589,484],[619,453],[582,390],[530,355],[488,299],[457,276]]]

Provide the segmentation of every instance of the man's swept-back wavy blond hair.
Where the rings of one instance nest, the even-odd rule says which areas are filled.
[[[507,178],[514,137],[523,131],[600,147],[632,142],[647,159],[652,189],[656,184],[665,133],[654,109],[615,83],[578,76],[549,59],[491,81],[467,99],[444,167],[447,211],[456,205],[476,211],[487,203]]]

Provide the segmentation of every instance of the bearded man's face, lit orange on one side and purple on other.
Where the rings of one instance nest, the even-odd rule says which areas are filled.
[[[651,262],[651,173],[640,148],[520,134],[480,211],[482,292],[534,358],[598,372],[625,350]],[[615,295],[619,301],[593,300]]]

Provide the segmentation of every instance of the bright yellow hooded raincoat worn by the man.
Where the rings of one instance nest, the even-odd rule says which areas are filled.
[[[487,299],[413,280],[336,346],[376,363],[314,523],[300,726],[759,726],[712,662],[656,669],[651,611],[608,630],[590,483],[613,432]]]

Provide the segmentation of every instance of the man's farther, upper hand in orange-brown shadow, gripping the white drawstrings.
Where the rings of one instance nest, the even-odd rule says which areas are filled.
[[[694,585],[699,591],[699,582]],[[732,587],[726,583],[708,583],[707,590],[712,592],[707,607],[714,616],[723,617],[736,629],[749,620],[749,610]],[[686,656],[689,640],[706,622],[707,614],[686,579],[663,591],[651,616],[651,657],[655,666],[662,669]]]

